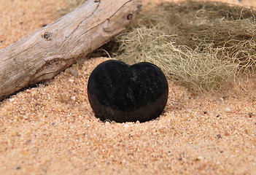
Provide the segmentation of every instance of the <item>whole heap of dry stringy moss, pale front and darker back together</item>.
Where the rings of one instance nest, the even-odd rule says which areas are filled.
[[[220,90],[255,69],[254,9],[212,1],[147,9],[101,50],[126,63],[155,63],[170,79],[202,90]],[[101,50],[90,56],[106,55]]]

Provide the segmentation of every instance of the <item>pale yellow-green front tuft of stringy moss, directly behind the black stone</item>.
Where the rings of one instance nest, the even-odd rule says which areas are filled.
[[[204,90],[219,90],[222,82],[233,79],[238,63],[231,59],[219,60],[212,45],[203,50],[185,45],[175,46],[174,36],[161,34],[157,28],[136,28],[119,36],[120,55],[117,59],[126,63],[147,61],[154,63],[166,76],[177,82],[193,84]]]

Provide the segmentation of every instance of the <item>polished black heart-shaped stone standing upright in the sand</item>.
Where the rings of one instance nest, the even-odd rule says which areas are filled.
[[[90,106],[102,121],[146,122],[166,106],[168,82],[152,63],[132,66],[109,60],[99,64],[88,81]]]

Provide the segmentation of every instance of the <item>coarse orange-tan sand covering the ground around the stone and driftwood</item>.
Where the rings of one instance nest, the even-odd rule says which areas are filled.
[[[62,2],[1,0],[0,48],[58,19]],[[107,59],[80,61],[0,102],[0,174],[256,174],[255,74],[217,93],[168,79],[157,120],[103,123],[87,82]]]

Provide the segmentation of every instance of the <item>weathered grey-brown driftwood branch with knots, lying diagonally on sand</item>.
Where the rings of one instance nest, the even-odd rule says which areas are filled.
[[[60,20],[0,50],[0,101],[52,79],[125,30],[139,10],[136,0],[88,0]]]

